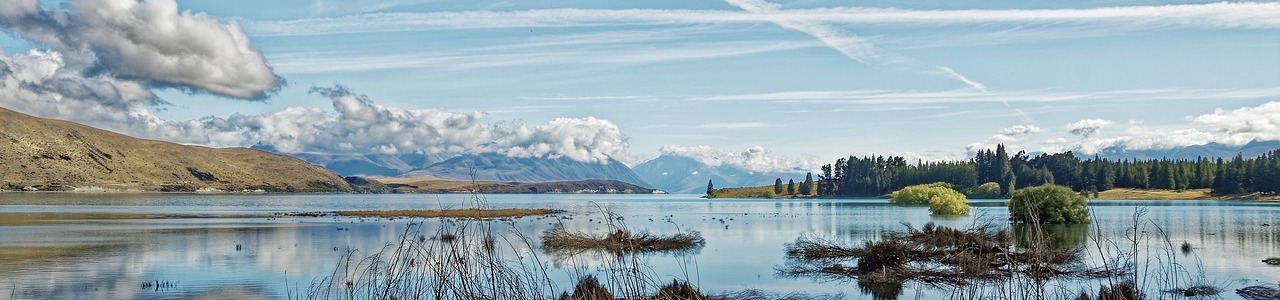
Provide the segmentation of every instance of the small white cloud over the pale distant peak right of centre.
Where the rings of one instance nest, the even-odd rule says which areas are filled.
[[[759,173],[773,173],[773,172],[810,172],[820,162],[817,159],[792,159],[772,155],[769,151],[764,150],[762,146],[748,147],[741,151],[727,151],[710,146],[677,146],[666,145],[659,150],[663,155],[677,155],[685,156],[699,163],[719,167],[730,165],[749,172]]]

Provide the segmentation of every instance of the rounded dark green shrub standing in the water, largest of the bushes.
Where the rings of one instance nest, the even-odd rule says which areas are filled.
[[[1014,191],[1009,197],[1009,214],[1014,222],[1042,224],[1089,223],[1084,196],[1059,185],[1042,185]]]

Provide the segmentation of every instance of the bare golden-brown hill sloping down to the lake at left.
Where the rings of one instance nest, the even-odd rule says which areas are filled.
[[[259,150],[134,138],[0,108],[0,190],[351,192],[342,177]]]

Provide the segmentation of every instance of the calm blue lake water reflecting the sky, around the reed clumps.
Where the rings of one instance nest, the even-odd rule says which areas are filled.
[[[104,195],[0,194],[0,299],[288,299],[330,274],[348,250],[376,253],[398,240],[410,221],[274,218],[273,213],[467,208],[468,195]],[[870,299],[847,281],[785,278],[785,246],[808,235],[860,242],[884,231],[934,222],[965,228],[1009,227],[1000,200],[970,200],[973,217],[933,218],[927,208],[891,206],[883,199],[705,200],[695,195],[490,195],[495,208],[567,210],[559,221],[521,218],[515,228],[536,236],[562,222],[571,231],[603,231],[602,210],[627,227],[654,233],[699,231],[705,247],[691,255],[646,255],[663,278],[689,278],[704,291],[844,294]],[[1135,209],[1193,245],[1180,263],[1226,287],[1280,281],[1280,203],[1092,200],[1093,221],[1119,238]],[[154,218],[147,215],[170,215]],[[178,215],[178,217],[172,217]],[[669,217],[668,217],[669,215]],[[92,219],[84,219],[92,217]],[[1263,226],[1271,224],[1271,226]],[[426,228],[439,221],[426,221]],[[1152,227],[1153,228],[1153,227]],[[1083,229],[1064,229],[1087,245]],[[237,245],[241,249],[237,249]],[[549,259],[567,282],[591,259]],[[1198,263],[1197,263],[1198,262]],[[687,276],[686,276],[687,273]],[[169,282],[161,288],[145,282]],[[1096,287],[1093,287],[1096,288]],[[296,294],[294,294],[296,296]],[[943,297],[908,285],[902,299]]]

